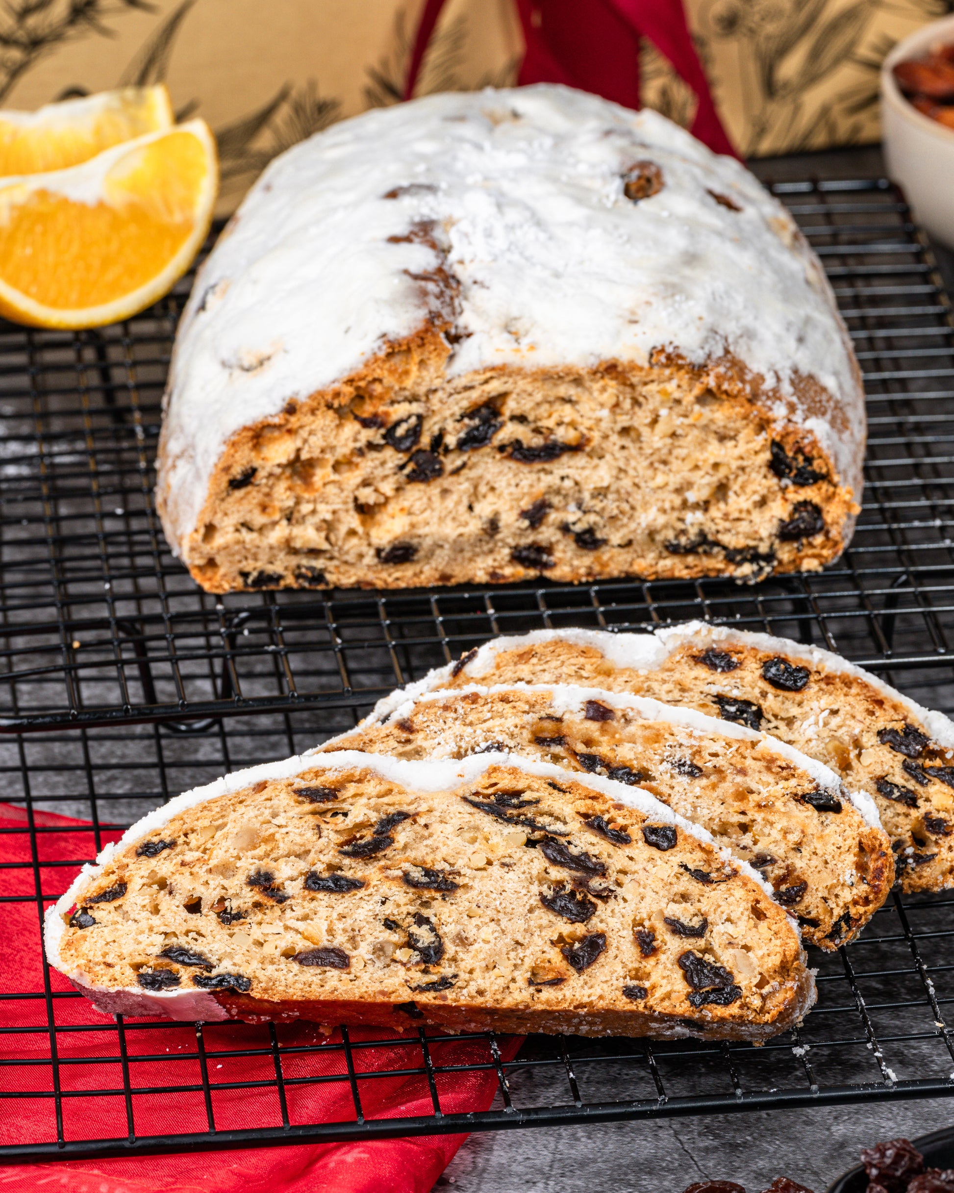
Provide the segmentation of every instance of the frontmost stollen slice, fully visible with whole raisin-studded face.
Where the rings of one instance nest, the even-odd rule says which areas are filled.
[[[814,999],[792,920],[704,829],[507,754],[227,775],[83,867],[45,941],[100,1010],[174,1019],[760,1040]]]

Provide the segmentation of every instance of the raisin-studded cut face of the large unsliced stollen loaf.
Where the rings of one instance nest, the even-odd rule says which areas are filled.
[[[448,379],[447,356],[427,330],[235,434],[194,527],[161,484],[194,579],[215,593],[752,581],[819,569],[850,538],[857,505],[831,459],[731,367],[609,361]]]

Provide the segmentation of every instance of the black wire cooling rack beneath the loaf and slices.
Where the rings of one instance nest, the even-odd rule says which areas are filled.
[[[0,934],[0,1099],[13,1100],[0,1158],[954,1094],[946,895],[894,895],[850,948],[814,953],[818,1007],[758,1049],[532,1037],[507,1059],[506,1040],[491,1036],[463,1038],[460,1053],[460,1038],[426,1033],[395,1044],[326,1039],[302,1025],[112,1022],[38,956],[42,909],[117,826],[224,771],[301,752],[491,635],[731,620],[828,645],[922,703],[954,707],[950,304],[890,184],[775,190],[822,256],[854,336],[871,438],[865,511],[841,563],[754,587],[205,595],[171,557],[151,503],[160,395],[187,284],[103,330],[0,324],[0,849],[10,859],[0,900],[36,950],[16,952],[24,932]],[[466,1073],[490,1075],[488,1111],[451,1108],[448,1090]],[[382,1117],[380,1082],[392,1078],[420,1082],[425,1105],[410,1118]],[[333,1121],[308,1109],[317,1089],[340,1094]],[[235,1115],[236,1099],[250,1098],[264,1099],[255,1126]]]

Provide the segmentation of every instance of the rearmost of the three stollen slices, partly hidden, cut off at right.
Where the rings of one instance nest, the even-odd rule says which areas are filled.
[[[535,630],[469,650],[372,717],[426,691],[514,680],[632,692],[764,730],[873,797],[903,890],[954,885],[954,723],[830,650],[705,622]]]

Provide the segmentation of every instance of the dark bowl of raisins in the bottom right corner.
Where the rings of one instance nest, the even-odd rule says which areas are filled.
[[[866,1148],[828,1193],[954,1193],[954,1127]]]

